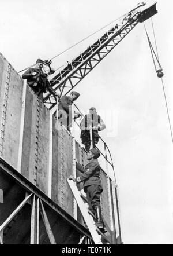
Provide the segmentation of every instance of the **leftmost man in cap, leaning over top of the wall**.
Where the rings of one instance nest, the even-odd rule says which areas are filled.
[[[42,71],[43,60],[38,58],[36,60],[36,67],[29,68],[22,74],[23,79],[27,79],[27,85],[31,87],[33,92],[43,101],[43,93],[46,93],[47,90],[50,92],[55,100],[57,100],[57,93],[50,85],[50,82],[47,79],[47,75]]]

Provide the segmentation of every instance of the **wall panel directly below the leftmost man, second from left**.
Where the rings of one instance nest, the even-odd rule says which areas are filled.
[[[27,86],[21,174],[48,194],[50,112]]]

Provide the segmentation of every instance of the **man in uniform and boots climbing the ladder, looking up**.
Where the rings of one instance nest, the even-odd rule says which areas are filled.
[[[89,161],[85,167],[81,166],[80,163],[76,160],[77,170],[82,174],[77,178],[74,178],[72,175],[69,177],[69,180],[75,181],[77,184],[84,182],[84,192],[86,193],[86,198],[88,200],[89,210],[95,215],[95,221],[97,227],[102,231],[106,232],[104,229],[104,223],[101,217],[101,206],[100,206],[100,197],[103,192],[100,180],[100,164],[97,160],[99,158],[100,152],[96,148],[92,148],[88,155],[87,159]]]

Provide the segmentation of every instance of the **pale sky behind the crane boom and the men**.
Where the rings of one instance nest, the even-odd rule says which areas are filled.
[[[137,0],[0,0],[0,52],[20,71],[37,58],[50,59],[136,7]],[[164,86],[173,122],[171,0],[158,0],[153,17]],[[151,20],[146,28],[154,46]],[[111,28],[111,25],[106,28]],[[103,30],[56,58],[72,60]],[[173,244],[172,141],[161,79],[152,63],[143,24],[80,82],[77,105],[96,107],[106,130],[119,185],[125,244]],[[113,113],[113,114],[112,114]],[[111,135],[110,119],[115,120]],[[113,122],[113,121],[112,121]]]

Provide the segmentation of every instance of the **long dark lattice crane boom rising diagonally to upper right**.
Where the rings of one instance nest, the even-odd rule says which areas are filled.
[[[73,90],[138,23],[144,22],[156,13],[156,2],[149,5],[144,2],[140,3],[136,8],[125,14],[122,19],[119,19],[116,25],[93,45],[70,61],[63,70],[50,80],[51,86],[57,91],[59,98],[62,94],[66,95]],[[44,103],[49,104],[49,109],[52,109],[56,103],[50,96],[51,94],[48,93],[44,97]]]

